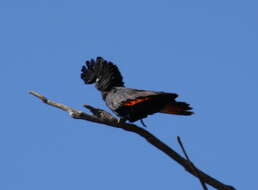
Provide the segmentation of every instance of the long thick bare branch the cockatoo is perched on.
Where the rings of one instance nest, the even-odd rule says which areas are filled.
[[[134,133],[142,136],[143,138],[145,138],[145,140],[147,140],[150,144],[152,144],[153,146],[158,148],[160,151],[165,153],[167,156],[172,158],[174,161],[176,161],[178,164],[180,164],[182,167],[184,167],[187,172],[189,172],[193,176],[197,177],[202,182],[209,184],[218,190],[235,190],[235,188],[233,186],[223,184],[219,180],[209,176],[208,174],[204,173],[203,171],[196,168],[195,166],[193,168],[193,166],[191,164],[189,164],[189,161],[187,159],[180,156],[176,151],[174,151],[168,145],[166,145],[161,140],[159,140],[157,137],[152,135],[150,132],[148,132],[147,130],[145,130],[141,127],[138,127],[137,125],[119,122],[119,120],[116,119],[114,116],[112,116],[112,114],[110,114],[104,110],[94,108],[89,105],[84,105],[84,107],[89,109],[93,113],[93,115],[90,115],[90,114],[84,113],[80,110],[76,110],[76,109],[73,109],[66,105],[59,104],[54,101],[48,100],[46,97],[42,96],[41,94],[39,94],[37,92],[30,91],[29,93],[32,94],[33,96],[39,98],[40,100],[42,100],[44,103],[46,103],[48,105],[54,106],[56,108],[59,108],[59,109],[62,109],[63,111],[68,112],[72,118],[87,120],[87,121],[104,124],[104,125],[108,125],[108,126],[115,127],[115,128],[120,128],[120,129],[129,131],[129,132],[134,132]]]

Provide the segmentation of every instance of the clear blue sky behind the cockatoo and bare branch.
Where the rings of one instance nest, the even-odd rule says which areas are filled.
[[[74,120],[28,90],[107,109],[80,79],[86,59],[116,63],[128,87],[176,92],[196,114],[156,114],[148,130],[237,189],[257,189],[257,1],[2,0],[0,189],[201,189],[119,129]],[[212,188],[210,188],[212,189]]]

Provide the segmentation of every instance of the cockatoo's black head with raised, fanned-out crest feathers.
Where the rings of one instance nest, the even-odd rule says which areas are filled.
[[[81,69],[81,79],[85,84],[96,83],[96,88],[102,92],[109,91],[113,87],[124,86],[118,67],[102,57],[85,62]]]

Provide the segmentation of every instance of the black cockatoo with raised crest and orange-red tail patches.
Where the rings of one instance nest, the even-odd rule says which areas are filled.
[[[123,121],[142,120],[157,112],[192,115],[189,104],[177,102],[175,93],[126,88],[119,69],[101,57],[88,60],[81,69],[85,84],[96,83],[106,105]]]

